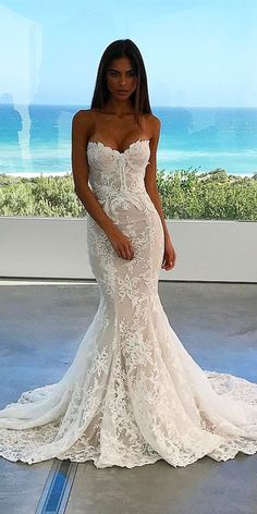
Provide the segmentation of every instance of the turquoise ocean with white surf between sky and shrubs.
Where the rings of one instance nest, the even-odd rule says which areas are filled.
[[[71,173],[71,122],[84,106],[0,106],[0,173]],[[257,173],[257,108],[152,107],[157,169]]]

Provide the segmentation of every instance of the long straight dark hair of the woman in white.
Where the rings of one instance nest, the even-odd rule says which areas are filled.
[[[135,121],[140,125],[139,114],[151,114],[152,112],[148,97],[147,76],[143,57],[137,46],[131,39],[117,39],[103,51],[98,65],[90,108],[102,109],[106,106],[110,96],[107,87],[106,72],[111,61],[122,57],[127,57],[131,60],[132,66],[137,74],[137,86],[131,96],[131,101],[134,107]]]

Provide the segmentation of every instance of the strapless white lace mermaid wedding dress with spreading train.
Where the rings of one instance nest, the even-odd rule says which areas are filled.
[[[134,258],[119,257],[87,217],[97,313],[62,379],[0,411],[0,455],[132,468],[160,458],[176,467],[205,455],[228,461],[256,453],[257,383],[203,370],[160,303],[163,229],[144,184],[149,140],[124,152],[91,140],[86,151],[89,185],[130,236]]]

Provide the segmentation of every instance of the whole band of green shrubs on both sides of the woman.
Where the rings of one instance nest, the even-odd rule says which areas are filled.
[[[257,221],[257,174],[228,175],[225,170],[157,171],[166,219]],[[0,174],[0,216],[85,217],[71,173],[26,179]]]

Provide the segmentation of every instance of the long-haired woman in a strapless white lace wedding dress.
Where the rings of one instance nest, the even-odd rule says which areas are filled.
[[[10,461],[176,467],[257,452],[257,384],[200,369],[160,303],[160,267],[172,269],[176,256],[156,186],[159,133],[140,52],[113,41],[90,109],[72,124],[100,303],[60,382],[0,412],[0,454]]]

